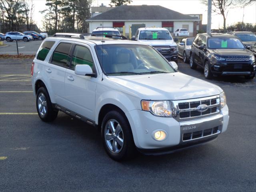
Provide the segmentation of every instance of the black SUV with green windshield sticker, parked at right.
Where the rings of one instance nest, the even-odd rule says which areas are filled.
[[[206,79],[213,75],[244,75],[253,79],[255,57],[241,40],[229,34],[198,34],[190,51],[190,68],[204,68]]]

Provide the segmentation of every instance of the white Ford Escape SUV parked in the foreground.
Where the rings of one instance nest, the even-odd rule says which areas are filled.
[[[226,131],[220,87],[178,72],[147,44],[75,35],[45,39],[33,60],[43,121],[62,111],[98,128],[114,160],[198,146]]]

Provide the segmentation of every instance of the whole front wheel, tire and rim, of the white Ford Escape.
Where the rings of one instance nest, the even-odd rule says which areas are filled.
[[[136,154],[130,124],[120,111],[110,111],[102,121],[102,140],[110,158],[121,161]]]

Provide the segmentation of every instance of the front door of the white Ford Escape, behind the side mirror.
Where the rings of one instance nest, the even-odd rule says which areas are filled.
[[[76,43],[73,50],[70,68],[66,70],[65,77],[66,108],[93,120],[97,78],[76,75],[74,69],[77,64],[88,64],[96,73],[95,58],[91,54],[92,49],[86,44]]]

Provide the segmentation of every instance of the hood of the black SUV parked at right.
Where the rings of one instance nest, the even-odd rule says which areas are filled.
[[[214,54],[219,56],[250,56],[252,52],[247,49],[214,49],[211,50]]]

